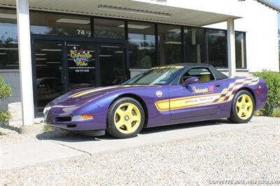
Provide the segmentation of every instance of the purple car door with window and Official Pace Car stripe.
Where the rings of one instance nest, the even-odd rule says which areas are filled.
[[[198,83],[183,86],[187,78],[199,78]],[[190,122],[209,119],[223,110],[219,98],[225,91],[225,80],[216,80],[214,73],[208,67],[193,67],[188,69],[178,85],[169,89],[170,113],[174,122]]]

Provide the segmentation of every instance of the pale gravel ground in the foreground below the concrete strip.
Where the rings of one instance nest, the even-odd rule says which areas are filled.
[[[1,185],[280,184],[280,124],[4,171]],[[213,181],[213,182],[212,182]]]

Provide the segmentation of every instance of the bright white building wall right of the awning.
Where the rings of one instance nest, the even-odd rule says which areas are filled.
[[[235,20],[236,31],[246,31],[246,59],[250,72],[279,71],[277,12],[255,0],[243,1],[244,18]],[[226,22],[207,25],[226,29]]]

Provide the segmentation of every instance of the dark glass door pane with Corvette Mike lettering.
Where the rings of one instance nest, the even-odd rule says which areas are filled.
[[[76,90],[96,86],[95,50],[92,43],[66,43],[68,88]]]

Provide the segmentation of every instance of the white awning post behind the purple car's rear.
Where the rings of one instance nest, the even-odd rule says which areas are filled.
[[[230,78],[235,77],[235,20],[233,18],[227,19],[228,31],[228,75]]]

